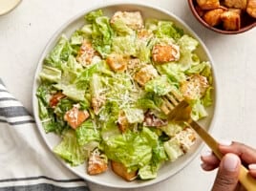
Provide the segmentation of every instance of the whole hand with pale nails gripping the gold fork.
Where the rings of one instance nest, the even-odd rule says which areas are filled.
[[[249,173],[256,179],[256,150],[239,142],[223,142],[219,145],[224,158],[220,161],[212,152],[204,152],[201,159],[202,168],[211,171],[219,167],[212,191],[242,191],[239,183],[239,169],[243,162]]]

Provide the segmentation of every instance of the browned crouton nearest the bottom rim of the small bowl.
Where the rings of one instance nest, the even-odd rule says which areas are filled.
[[[224,22],[224,30],[237,31],[241,27],[241,17],[235,11],[224,11],[222,13],[222,20]]]

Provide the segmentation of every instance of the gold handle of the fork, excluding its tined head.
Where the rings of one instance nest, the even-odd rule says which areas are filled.
[[[203,139],[203,141],[211,148],[213,153],[218,159],[222,159],[224,155],[219,150],[219,143],[212,138],[196,121],[190,119],[187,121],[190,126],[198,133],[198,135]],[[239,181],[245,186],[248,191],[256,190],[256,180],[251,177],[245,166],[241,165]]]

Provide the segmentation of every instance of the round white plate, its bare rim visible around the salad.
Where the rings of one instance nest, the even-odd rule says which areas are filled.
[[[47,146],[53,150],[53,147],[58,143],[59,138],[54,136],[53,134],[46,134],[44,132],[44,128],[42,127],[42,124],[39,119],[38,115],[38,105],[37,105],[37,98],[35,96],[36,89],[38,87],[38,73],[41,71],[42,63],[44,57],[49,53],[52,49],[55,43],[57,42],[59,36],[62,33],[65,33],[67,36],[71,35],[72,32],[75,32],[75,29],[80,28],[84,25],[84,15],[89,11],[95,11],[101,9],[104,14],[106,15],[113,15],[115,11],[140,11],[144,18],[157,18],[157,19],[167,19],[173,21],[178,27],[184,30],[185,33],[190,34],[191,36],[195,37],[200,42],[200,47],[198,48],[197,52],[198,55],[202,60],[209,60],[211,63],[213,63],[213,60],[208,53],[206,47],[203,45],[203,41],[198,37],[198,35],[195,34],[183,21],[181,21],[180,18],[172,14],[171,12],[161,10],[160,8],[152,7],[149,5],[142,5],[142,4],[111,4],[104,7],[97,7],[95,9],[83,11],[76,15],[74,18],[72,18],[70,21],[68,21],[64,26],[62,26],[55,34],[53,35],[53,38],[48,43],[45,51],[42,53],[42,56],[39,60],[38,67],[35,72],[34,77],[34,84],[33,84],[33,93],[32,93],[32,102],[33,102],[33,114],[35,117],[35,121],[38,125],[39,132],[42,136],[42,138],[45,140]],[[213,77],[216,80],[216,77],[214,75],[213,70]],[[209,116],[205,119],[201,120],[200,123],[205,127],[207,131],[209,131],[212,127],[213,123],[213,117],[216,113],[216,103],[217,103],[217,96],[216,96],[216,81],[214,82],[214,104],[212,107],[208,108],[208,114]],[[59,159],[60,162],[62,162],[67,168],[69,168],[71,171],[73,171],[77,176],[83,178],[84,180],[89,180],[92,182],[95,182],[100,185],[105,185],[109,187],[115,187],[115,188],[135,188],[135,187],[142,187],[146,185],[150,185],[156,182],[159,182],[161,180],[165,180],[167,178],[170,178],[171,176],[178,173],[184,166],[186,166],[192,159],[194,159],[197,154],[200,151],[200,148],[203,146],[202,141],[200,138],[197,138],[196,144],[190,149],[190,151],[185,154],[180,159],[177,159],[174,162],[168,162],[164,164],[158,173],[158,177],[154,180],[135,180],[132,182],[127,182],[125,180],[122,180],[121,178],[117,177],[112,170],[108,170],[108,172],[103,173],[101,175],[97,176],[90,176],[85,171],[85,165],[72,167],[69,164],[65,163],[62,159]],[[199,169],[200,170],[200,169]],[[184,178],[185,179],[185,178]]]

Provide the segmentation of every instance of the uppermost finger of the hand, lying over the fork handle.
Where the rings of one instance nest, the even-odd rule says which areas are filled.
[[[230,144],[229,144],[230,143]],[[223,154],[234,153],[246,163],[256,163],[256,150],[240,142],[220,142],[219,149]]]

